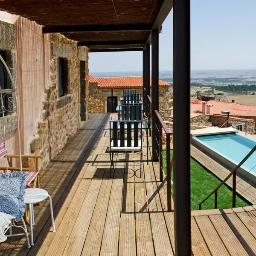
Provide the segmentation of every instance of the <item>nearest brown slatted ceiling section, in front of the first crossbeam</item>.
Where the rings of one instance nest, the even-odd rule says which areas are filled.
[[[44,26],[154,21],[160,0],[1,0],[0,9]]]

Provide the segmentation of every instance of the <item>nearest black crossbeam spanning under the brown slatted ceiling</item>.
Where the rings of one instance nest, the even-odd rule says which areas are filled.
[[[153,23],[44,26],[43,33],[151,31]]]

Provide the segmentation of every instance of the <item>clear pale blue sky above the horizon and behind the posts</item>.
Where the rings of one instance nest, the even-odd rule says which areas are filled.
[[[256,0],[191,0],[191,69],[256,69]],[[159,35],[159,70],[172,70],[172,12]],[[90,72],[141,71],[142,52],[89,54]]]

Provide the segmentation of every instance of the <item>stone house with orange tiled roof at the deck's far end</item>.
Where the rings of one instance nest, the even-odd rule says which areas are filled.
[[[115,110],[116,106],[121,105],[120,97],[124,96],[127,90],[134,90],[134,93],[143,96],[143,77],[93,77],[89,74],[88,111],[94,113],[111,112],[112,93]],[[164,119],[169,119],[168,92],[169,84],[159,80],[159,113]]]

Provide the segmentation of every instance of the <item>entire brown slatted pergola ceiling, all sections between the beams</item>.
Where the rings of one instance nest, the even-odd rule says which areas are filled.
[[[163,1],[0,0],[0,10],[26,17],[43,26],[153,24]],[[79,42],[146,41],[150,31],[65,32],[63,35]],[[111,46],[111,48],[116,47]],[[135,46],[127,42],[125,47]],[[95,47],[89,48],[95,49]],[[100,48],[110,48],[110,46]]]

